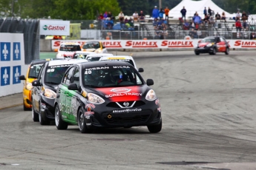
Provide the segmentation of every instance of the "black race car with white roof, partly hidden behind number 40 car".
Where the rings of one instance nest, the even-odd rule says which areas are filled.
[[[61,83],[65,71],[72,64],[87,62],[85,59],[65,59],[46,62],[32,82],[32,118],[41,125],[47,125],[54,120],[54,100],[56,98],[56,86]]]

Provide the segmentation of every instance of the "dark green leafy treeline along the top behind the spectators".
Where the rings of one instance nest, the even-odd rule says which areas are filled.
[[[134,11],[151,15],[154,6],[169,9],[182,0],[1,0],[0,16],[20,16],[22,18],[55,18],[64,20],[95,19],[99,13],[111,11],[118,16],[120,10],[127,16]],[[237,8],[246,13],[256,14],[255,0],[212,0],[229,13],[236,13]]]

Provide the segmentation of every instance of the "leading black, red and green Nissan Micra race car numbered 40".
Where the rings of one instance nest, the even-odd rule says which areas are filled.
[[[57,129],[78,125],[82,133],[97,128],[147,126],[151,133],[162,129],[160,101],[151,85],[124,61],[93,61],[73,64],[57,88]]]

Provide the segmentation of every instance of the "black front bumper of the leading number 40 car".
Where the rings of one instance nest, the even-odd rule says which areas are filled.
[[[133,108],[101,107],[97,109],[96,107],[93,109],[93,114],[85,112],[84,116],[88,128],[149,126],[161,122],[160,107],[150,103]]]

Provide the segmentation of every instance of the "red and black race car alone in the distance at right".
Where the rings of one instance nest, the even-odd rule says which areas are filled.
[[[225,52],[229,55],[229,43],[222,36],[209,36],[200,40],[197,47],[194,48],[194,53],[200,55],[200,53],[209,53],[215,55],[216,52]]]

